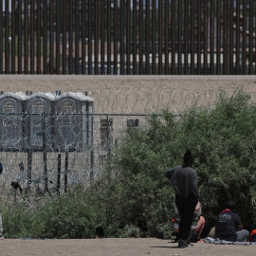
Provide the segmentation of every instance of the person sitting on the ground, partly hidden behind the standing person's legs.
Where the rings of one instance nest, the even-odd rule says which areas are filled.
[[[174,229],[176,232],[176,236],[178,239],[178,232],[179,232],[179,213],[178,210],[175,208],[176,216],[173,219],[174,222]],[[196,243],[197,241],[200,241],[201,233],[205,227],[206,220],[202,214],[201,204],[200,202],[197,203],[194,214],[193,214],[193,220],[192,220],[192,229],[191,229],[191,235],[190,235],[190,242]]]

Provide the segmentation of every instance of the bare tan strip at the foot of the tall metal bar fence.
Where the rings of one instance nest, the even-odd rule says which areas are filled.
[[[1,91],[53,92],[80,91],[105,88],[175,88],[184,90],[233,91],[243,86],[256,92],[256,76],[106,76],[106,75],[2,75]]]

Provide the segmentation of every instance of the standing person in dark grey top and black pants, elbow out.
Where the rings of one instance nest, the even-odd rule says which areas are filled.
[[[192,218],[195,206],[199,200],[197,189],[197,174],[192,169],[193,155],[187,150],[183,156],[183,164],[178,165],[165,173],[175,191],[175,205],[180,214],[178,247],[188,247],[192,227]]]

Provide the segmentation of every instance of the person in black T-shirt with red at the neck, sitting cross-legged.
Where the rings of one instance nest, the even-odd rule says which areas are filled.
[[[234,213],[235,203],[228,201],[226,209],[217,218],[214,238],[231,242],[247,241],[249,232],[243,229],[242,222],[238,214]]]

